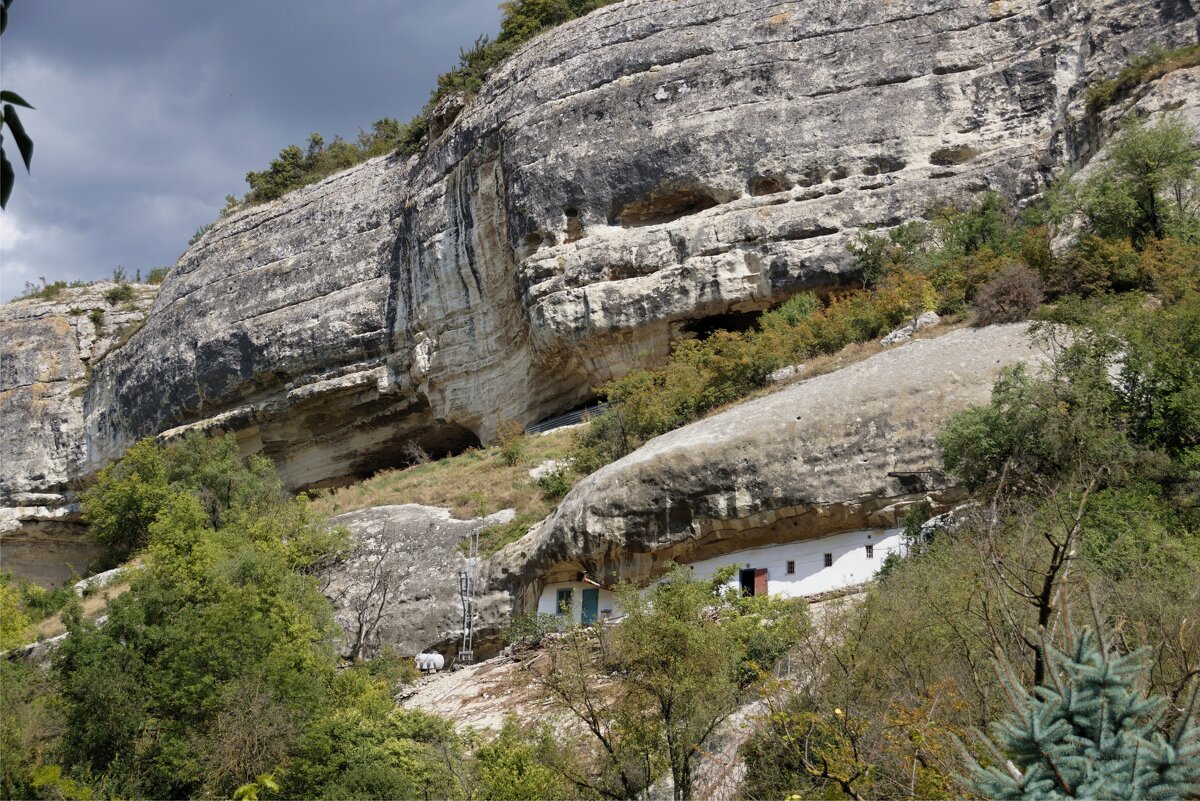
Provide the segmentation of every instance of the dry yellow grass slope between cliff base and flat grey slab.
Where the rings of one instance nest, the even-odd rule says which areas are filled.
[[[470,450],[403,470],[384,470],[356,484],[335,489],[313,501],[316,511],[334,516],[386,504],[443,506],[455,517],[472,518],[515,508],[518,514],[545,517],[553,506],[541,498],[529,469],[566,456],[572,432],[557,430],[524,438],[524,453],[515,465],[500,448]]]

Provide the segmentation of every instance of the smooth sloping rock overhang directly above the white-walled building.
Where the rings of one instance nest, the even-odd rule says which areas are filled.
[[[488,562],[536,597],[551,572],[647,580],[766,543],[896,524],[948,502],[942,423],[985,403],[1006,365],[1037,365],[1025,324],[918,339],[650,440],[581,481],[540,528]]]

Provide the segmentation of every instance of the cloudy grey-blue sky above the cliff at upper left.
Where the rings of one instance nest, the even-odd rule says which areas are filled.
[[[0,80],[36,107],[34,168],[0,212],[0,297],[173,264],[284,145],[420,110],[497,2],[16,0]]]

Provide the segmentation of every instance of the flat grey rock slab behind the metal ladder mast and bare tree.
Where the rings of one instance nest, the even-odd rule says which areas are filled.
[[[343,656],[374,656],[382,645],[414,655],[440,645],[457,654],[462,638],[458,571],[468,570],[460,546],[475,531],[512,519],[512,512],[458,520],[444,508],[406,504],[377,506],[332,519],[349,529],[354,553],[323,573],[346,632]],[[499,588],[480,588],[476,627],[494,642],[512,601]]]

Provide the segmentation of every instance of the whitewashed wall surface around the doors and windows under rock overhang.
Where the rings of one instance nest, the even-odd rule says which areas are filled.
[[[883,560],[890,553],[899,553],[902,538],[900,529],[872,529],[870,531],[847,531],[833,534],[820,540],[787,542],[761,548],[736,550],[722,556],[714,556],[691,562],[696,578],[708,578],[728,565],[738,568],[767,568],[767,595],[779,595],[794,598],[805,595],[817,595],[844,586],[852,586],[869,580],[880,570]],[[874,546],[874,556],[866,556],[866,546]],[[824,555],[833,555],[833,566],[824,566]],[[796,562],[796,572],[787,573],[787,562]],[[734,573],[730,586],[738,586]],[[583,614],[583,590],[594,589],[583,582],[559,582],[547,584],[538,598],[538,612],[544,615],[558,614],[556,606],[558,590],[571,589],[571,620],[580,622]],[[613,614],[619,610],[613,607],[612,592],[600,590],[600,616],[605,609]]]

